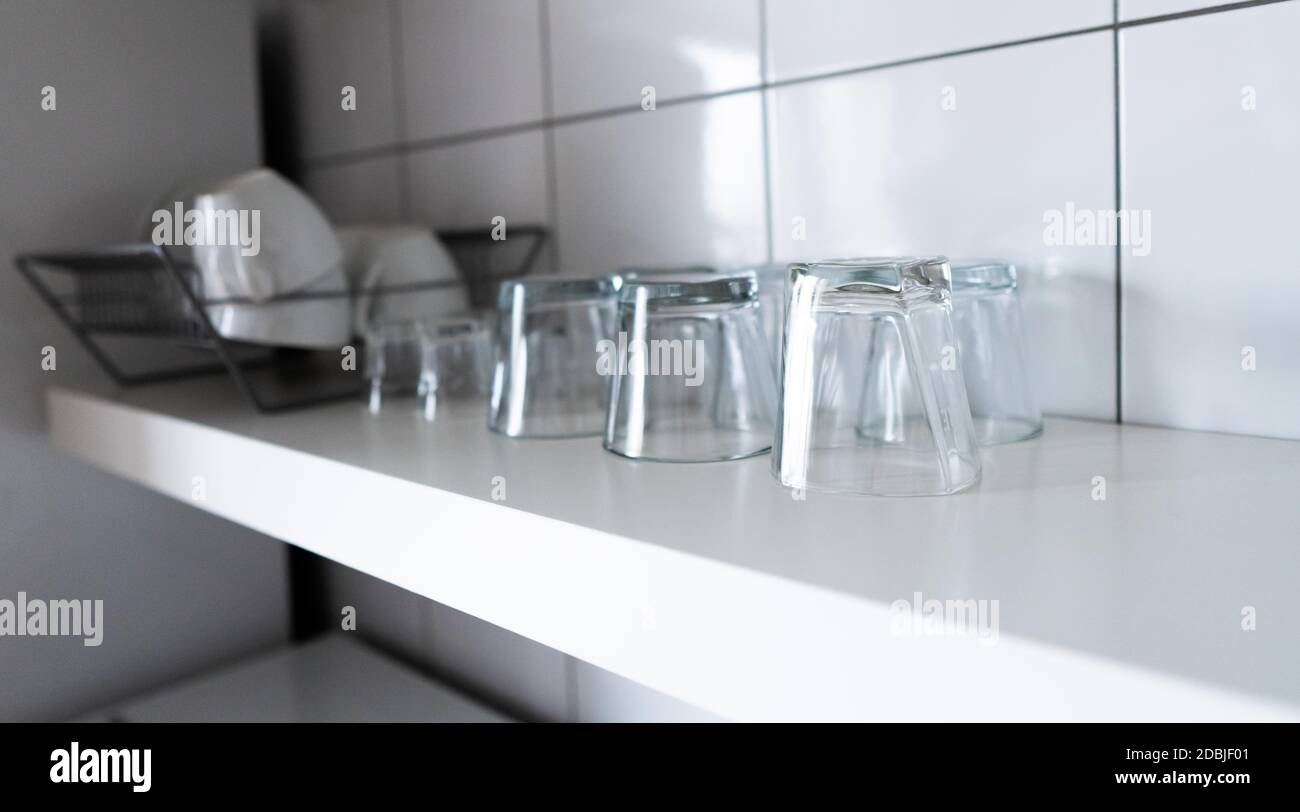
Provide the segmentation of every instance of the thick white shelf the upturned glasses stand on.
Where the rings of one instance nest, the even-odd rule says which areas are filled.
[[[53,388],[51,433],[724,717],[1300,718],[1300,443],[1052,420],[966,494],[797,501],[767,457],[510,440],[481,404],[265,417],[230,388]],[[893,633],[915,592],[997,600],[997,643]]]

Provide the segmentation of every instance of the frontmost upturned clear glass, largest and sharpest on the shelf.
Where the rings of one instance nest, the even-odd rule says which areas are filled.
[[[772,474],[880,496],[954,494],[980,457],[942,257],[790,265]]]

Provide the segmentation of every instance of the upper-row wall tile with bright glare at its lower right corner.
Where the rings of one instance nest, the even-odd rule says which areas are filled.
[[[759,83],[755,0],[550,0],[555,114]]]

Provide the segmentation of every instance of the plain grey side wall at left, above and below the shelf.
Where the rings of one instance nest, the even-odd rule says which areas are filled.
[[[252,38],[246,3],[0,0],[0,598],[105,615],[98,648],[0,637],[0,720],[68,717],[287,637],[281,544],[49,450],[44,388],[107,379],[9,266],[131,239],[178,179],[256,166]]]

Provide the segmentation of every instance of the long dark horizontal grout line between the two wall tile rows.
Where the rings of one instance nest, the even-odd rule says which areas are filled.
[[[918,65],[923,62],[931,62],[944,58],[954,58],[959,56],[971,56],[976,53],[987,53],[991,51],[1001,51],[1004,48],[1017,48],[1020,45],[1034,45],[1045,42],[1053,42],[1057,39],[1066,39],[1071,36],[1084,36],[1088,34],[1100,34],[1102,31],[1117,31],[1123,29],[1132,29],[1139,26],[1173,22],[1176,19],[1186,19],[1190,17],[1205,17],[1209,14],[1219,14],[1225,12],[1236,12],[1248,8],[1256,8],[1261,5],[1275,5],[1279,3],[1295,3],[1297,0],[1242,0],[1240,3],[1230,3],[1223,5],[1212,5],[1200,9],[1188,9],[1184,12],[1176,12],[1173,14],[1162,14],[1158,17],[1143,17],[1138,19],[1128,19],[1123,22],[1110,22],[1098,26],[1089,26],[1086,29],[1074,29],[1070,31],[1058,31],[1054,34],[1043,34],[1039,36],[1030,36],[1024,39],[1006,40],[1001,43],[993,43],[988,45],[975,45],[971,48],[961,48],[956,51],[944,51],[940,53],[927,53],[922,56],[914,56],[901,60],[893,60],[888,62],[878,62],[874,65],[861,65],[857,68],[846,68],[842,70],[832,70],[816,74],[809,74],[806,77],[792,77],[788,79],[774,79],[771,82],[760,81],[758,84],[746,84],[741,87],[732,87],[722,91],[692,94],[685,96],[677,96],[675,99],[660,99],[658,105],[663,107],[677,107],[685,104],[698,104],[701,101],[711,101],[714,99],[724,99],[727,96],[737,96],[744,94],[759,92],[766,90],[776,90],[781,87],[790,87],[797,84],[807,84],[811,82],[820,82],[827,79],[838,79],[842,77],[852,77],[864,73],[872,73],[876,70],[889,70],[892,68],[905,68],[907,65]],[[382,144],[377,147],[364,147],[359,149],[350,149],[346,152],[337,152],[333,155],[322,155],[312,159],[306,159],[299,161],[299,168],[304,170],[312,169],[325,169],[332,166],[343,166],[352,162],[361,162],[381,157],[393,157],[403,152],[422,152],[428,149],[438,149],[442,147],[452,147],[463,143],[486,140],[493,138],[502,138],[506,135],[515,135],[519,133],[526,133],[530,130],[547,129],[547,127],[563,127],[575,123],[585,123],[589,121],[599,121],[602,118],[612,118],[615,116],[627,116],[629,113],[636,113],[641,110],[640,104],[623,105],[616,108],[604,108],[598,110],[589,110],[584,113],[569,113],[567,116],[552,116],[545,117],[537,121],[524,121],[512,125],[503,125],[499,127],[486,127],[482,130],[467,130],[464,133],[456,133],[452,135],[441,135],[434,138],[417,139],[412,142],[402,142],[396,144]]]

